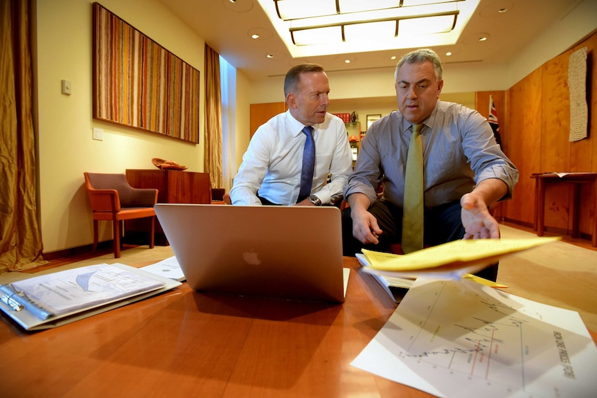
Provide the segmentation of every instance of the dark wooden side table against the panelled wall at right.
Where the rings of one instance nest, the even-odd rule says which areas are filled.
[[[549,185],[569,183],[572,186],[572,203],[570,215],[572,219],[572,237],[580,237],[579,219],[580,212],[580,185],[591,184],[591,203],[593,214],[593,232],[591,244],[597,246],[597,173],[535,173],[531,174],[535,179],[535,226],[537,235],[543,236],[545,220],[545,190]]]

